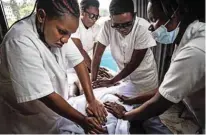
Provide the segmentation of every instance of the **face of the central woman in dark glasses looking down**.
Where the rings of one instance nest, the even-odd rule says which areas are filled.
[[[112,15],[112,28],[116,29],[121,35],[126,36],[132,30],[134,25],[134,16],[131,13]]]

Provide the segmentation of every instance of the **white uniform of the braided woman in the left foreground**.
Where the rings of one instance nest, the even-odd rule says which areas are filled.
[[[62,117],[37,99],[52,92],[67,99],[66,68],[83,61],[69,42],[50,51],[39,39],[35,15],[10,29],[1,44],[0,133],[59,133]]]

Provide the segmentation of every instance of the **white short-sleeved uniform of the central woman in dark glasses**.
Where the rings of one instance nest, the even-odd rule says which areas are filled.
[[[129,63],[134,50],[148,49],[144,59],[138,68],[133,71],[126,80],[131,80],[138,91],[148,91],[158,87],[158,74],[156,62],[150,47],[156,45],[148,31],[149,23],[136,18],[132,31],[126,36],[111,27],[111,20],[105,22],[98,35],[98,41],[105,46],[110,44],[111,53],[120,70],[124,69],[124,63]]]

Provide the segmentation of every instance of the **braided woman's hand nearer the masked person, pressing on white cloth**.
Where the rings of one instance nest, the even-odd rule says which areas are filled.
[[[104,108],[104,105],[98,100],[94,100],[87,104],[86,113],[88,116],[95,117],[101,125],[105,125],[107,121],[107,111]]]

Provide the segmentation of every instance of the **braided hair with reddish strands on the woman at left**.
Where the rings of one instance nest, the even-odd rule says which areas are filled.
[[[37,9],[44,9],[48,17],[62,16],[69,13],[77,18],[80,16],[77,0],[37,0]]]

